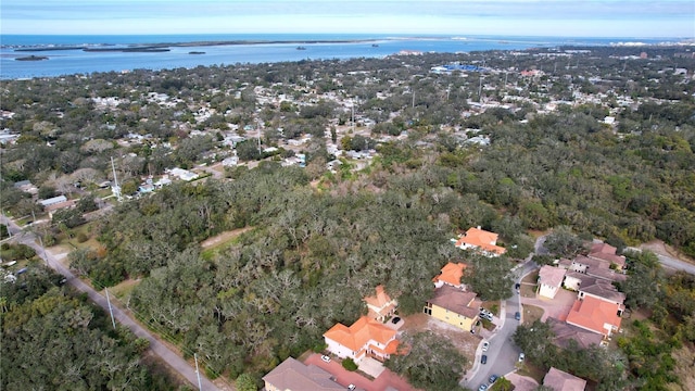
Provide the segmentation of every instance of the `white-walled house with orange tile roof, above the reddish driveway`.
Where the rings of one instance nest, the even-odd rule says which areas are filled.
[[[367,316],[352,326],[337,324],[324,333],[328,350],[341,358],[350,357],[359,362],[367,355],[377,360],[388,360],[396,352],[396,331]]]

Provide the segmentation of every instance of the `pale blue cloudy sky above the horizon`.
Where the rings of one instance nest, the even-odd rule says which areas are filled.
[[[695,37],[695,1],[1,0],[0,33]]]

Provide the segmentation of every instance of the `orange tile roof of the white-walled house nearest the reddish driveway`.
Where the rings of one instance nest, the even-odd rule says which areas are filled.
[[[395,338],[395,330],[371,320],[367,316],[363,316],[350,327],[337,324],[326,331],[324,337],[340,343],[353,352],[357,352],[369,341],[387,345]]]

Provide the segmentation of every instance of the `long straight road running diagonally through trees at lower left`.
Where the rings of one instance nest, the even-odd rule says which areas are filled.
[[[66,283],[70,283],[75,289],[80,292],[87,293],[89,299],[97,303],[99,306],[104,308],[106,313],[109,313],[109,304],[106,302],[106,298],[99,294],[96,290],[93,290],[90,286],[83,282],[79,278],[76,278],[73,273],[63,266],[58,260],[45,248],[40,247],[36,242],[36,236],[33,232],[22,231],[20,227],[17,227],[14,222],[9,220],[4,215],[0,217],[2,219],[1,224],[8,224],[9,228],[12,232],[14,240],[20,243],[26,244],[34,250],[36,253],[47,262],[48,266],[50,266],[55,272],[62,274],[67,279]],[[172,369],[179,373],[184,378],[186,378],[191,386],[198,387],[198,376],[195,374],[195,368],[190,366],[188,362],[186,362],[182,357],[180,357],[177,353],[169,350],[165,344],[160,342],[154,336],[152,336],[146,328],[141,327],[137,323],[135,323],[128,315],[126,315],[121,308],[116,306],[112,306],[114,318],[122,324],[123,326],[129,328],[132,333],[138,336],[139,338],[144,338],[150,341],[150,349],[152,352],[156,353],[164,362],[166,362]],[[202,390],[219,390],[217,386],[215,386],[212,381],[204,377],[202,370],[200,375]]]

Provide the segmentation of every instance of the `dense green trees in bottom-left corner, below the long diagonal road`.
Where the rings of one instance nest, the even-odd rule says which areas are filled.
[[[177,390],[142,355],[147,340],[111,327],[108,314],[35,264],[2,283],[3,390]]]

